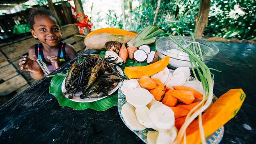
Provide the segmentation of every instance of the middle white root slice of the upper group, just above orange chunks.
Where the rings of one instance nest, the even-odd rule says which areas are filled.
[[[172,75],[170,80],[166,80],[166,86],[172,88],[172,86],[182,86],[186,82],[186,74],[179,72],[178,74]]]

